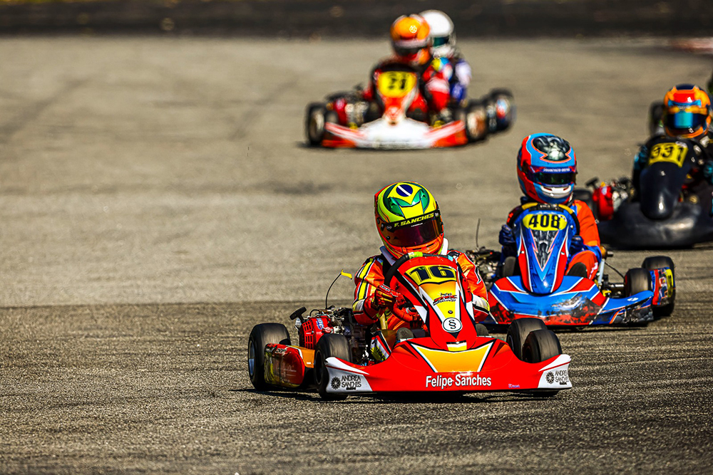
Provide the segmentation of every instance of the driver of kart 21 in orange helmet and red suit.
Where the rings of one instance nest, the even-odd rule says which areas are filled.
[[[453,75],[453,66],[431,55],[433,38],[431,28],[419,15],[399,16],[391,24],[391,47],[394,55],[380,61],[371,71],[369,84],[362,91],[364,100],[373,103],[374,82],[377,75],[389,66],[406,64],[419,73],[421,94],[409,108],[409,116],[426,120],[428,113],[431,125],[451,122],[451,111],[446,107],[451,98],[448,80]]]

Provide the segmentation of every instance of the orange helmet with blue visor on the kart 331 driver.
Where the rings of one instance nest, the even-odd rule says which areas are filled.
[[[694,138],[711,128],[713,109],[697,85],[679,84],[664,96],[664,128],[672,137]]]

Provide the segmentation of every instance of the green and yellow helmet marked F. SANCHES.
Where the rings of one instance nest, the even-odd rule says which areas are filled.
[[[438,254],[443,221],[434,195],[414,182],[390,184],[374,195],[376,231],[396,257],[409,252]]]

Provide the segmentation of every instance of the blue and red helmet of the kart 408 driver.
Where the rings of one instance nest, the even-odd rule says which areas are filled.
[[[533,134],[518,152],[518,181],[528,198],[540,203],[569,202],[577,177],[577,157],[557,135]]]

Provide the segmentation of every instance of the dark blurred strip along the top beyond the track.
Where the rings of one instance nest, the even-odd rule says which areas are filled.
[[[458,36],[709,36],[709,0],[0,0],[0,33],[384,36],[441,9]]]

